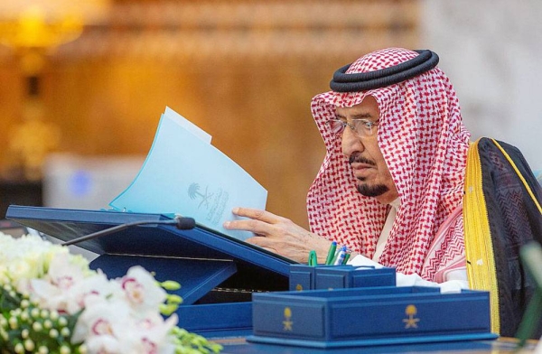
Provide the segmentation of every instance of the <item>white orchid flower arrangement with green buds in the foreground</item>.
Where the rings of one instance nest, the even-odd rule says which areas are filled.
[[[108,280],[67,247],[0,232],[0,351],[220,352],[219,344],[176,326],[182,299],[165,290],[179,286],[157,282],[140,266]]]

